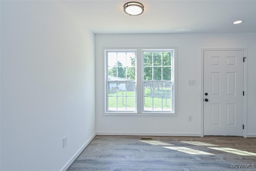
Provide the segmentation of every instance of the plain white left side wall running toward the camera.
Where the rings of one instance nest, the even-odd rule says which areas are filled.
[[[1,1],[1,171],[65,170],[94,137],[94,34],[81,23],[60,1]]]

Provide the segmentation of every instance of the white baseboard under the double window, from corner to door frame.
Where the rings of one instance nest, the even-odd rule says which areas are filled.
[[[96,135],[191,136],[191,137],[201,137],[201,133],[96,132]]]

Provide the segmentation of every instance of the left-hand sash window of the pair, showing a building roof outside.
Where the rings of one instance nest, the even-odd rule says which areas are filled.
[[[106,50],[106,111],[136,111],[136,50]]]

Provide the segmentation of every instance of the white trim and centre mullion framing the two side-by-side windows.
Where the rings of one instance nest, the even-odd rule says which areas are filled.
[[[104,61],[105,61],[105,69],[104,69],[104,79],[105,79],[105,83],[104,83],[104,87],[105,87],[105,93],[104,93],[104,112],[102,115],[105,116],[176,116],[178,111],[177,111],[177,47],[129,47],[129,48],[113,48],[113,47],[108,47],[108,48],[103,48],[104,51],[104,56],[106,54],[106,50],[135,50],[136,51],[136,60],[135,60],[135,66],[136,66],[136,104],[137,104],[137,111],[107,111],[107,103],[106,103],[106,97],[107,97],[107,85],[106,85],[106,78],[107,78],[107,72],[106,72],[106,67],[107,67],[107,63],[106,63],[106,57],[104,57]],[[142,98],[143,98],[143,87],[142,87],[142,50],[174,50],[174,55],[173,55],[173,112],[164,112],[164,111],[142,111],[143,109],[143,103],[142,103]],[[138,69],[139,66],[139,69]]]

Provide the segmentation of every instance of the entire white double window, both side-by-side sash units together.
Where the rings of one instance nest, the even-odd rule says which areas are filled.
[[[105,50],[105,60],[107,113],[174,113],[174,49]]]

